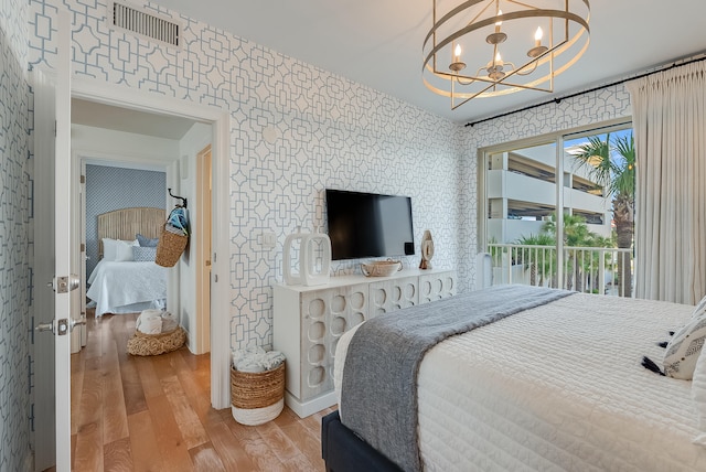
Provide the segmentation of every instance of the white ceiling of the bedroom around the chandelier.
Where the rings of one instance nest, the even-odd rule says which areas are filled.
[[[555,93],[525,90],[474,99],[451,111],[421,83],[430,0],[152,0],[172,11],[468,122],[624,78],[706,51],[704,0],[590,0],[590,45],[555,81]]]

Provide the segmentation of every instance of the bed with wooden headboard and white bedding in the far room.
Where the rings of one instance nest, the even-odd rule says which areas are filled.
[[[154,264],[164,218],[163,208],[151,207],[98,215],[99,261],[90,272],[86,292],[95,303],[96,317],[165,308],[167,269]]]

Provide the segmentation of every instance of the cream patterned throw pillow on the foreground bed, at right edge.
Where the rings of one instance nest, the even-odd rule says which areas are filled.
[[[706,341],[706,311],[692,318],[670,341],[664,353],[664,375],[691,380]]]

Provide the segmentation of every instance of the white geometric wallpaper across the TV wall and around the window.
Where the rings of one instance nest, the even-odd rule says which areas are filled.
[[[410,196],[417,254],[430,229],[435,267],[456,268],[462,292],[474,277],[477,150],[629,114],[619,86],[464,128],[161,7],[146,6],[183,24],[183,47],[110,30],[100,0],[30,0],[32,64],[56,60],[58,8],[72,13],[76,76],[229,111],[233,348],[271,345],[282,243],[297,226],[325,227],[324,189]],[[276,249],[261,246],[263,230],[276,234]],[[404,262],[416,267],[418,256]]]

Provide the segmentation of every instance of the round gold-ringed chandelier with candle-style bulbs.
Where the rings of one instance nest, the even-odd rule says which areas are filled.
[[[531,89],[554,92],[554,77],[588,49],[588,0],[432,0],[422,81],[451,98]]]

